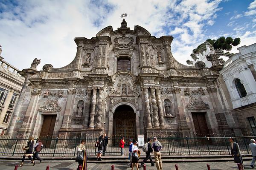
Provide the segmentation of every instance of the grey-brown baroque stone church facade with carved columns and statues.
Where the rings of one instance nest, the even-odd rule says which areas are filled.
[[[115,31],[108,26],[91,39],[75,38],[76,57],[65,67],[38,71],[35,59],[20,71],[26,79],[8,134],[137,139],[239,132],[214,54],[211,68],[182,65],[172,40],[141,26],[131,30],[123,20]]]

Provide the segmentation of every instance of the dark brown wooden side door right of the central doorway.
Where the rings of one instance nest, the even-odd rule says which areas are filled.
[[[205,113],[192,113],[192,118],[195,126],[195,133],[197,137],[205,137],[209,135]],[[202,144],[207,144],[206,139],[199,140]]]

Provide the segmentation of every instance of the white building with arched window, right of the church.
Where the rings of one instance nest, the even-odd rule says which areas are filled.
[[[256,43],[237,48],[220,71],[243,133],[256,135]]]

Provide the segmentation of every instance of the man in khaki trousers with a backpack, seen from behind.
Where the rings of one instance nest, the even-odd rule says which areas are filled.
[[[161,158],[161,152],[160,152],[160,150],[162,150],[162,144],[157,140],[157,137],[154,137],[154,143],[152,148],[154,149],[154,157],[156,161],[157,170],[163,170],[162,158]]]

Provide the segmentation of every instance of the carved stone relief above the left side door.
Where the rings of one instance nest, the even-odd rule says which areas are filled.
[[[49,94],[44,106],[39,108],[42,112],[56,112],[61,111],[61,107],[58,106],[58,97],[56,94]]]

